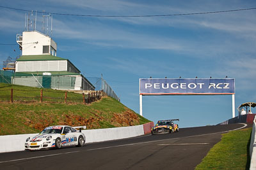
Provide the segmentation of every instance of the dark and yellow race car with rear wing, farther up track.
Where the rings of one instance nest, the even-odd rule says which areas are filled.
[[[152,127],[151,134],[166,134],[179,132],[179,125],[174,124],[173,121],[179,121],[179,119],[158,120],[157,124]]]

